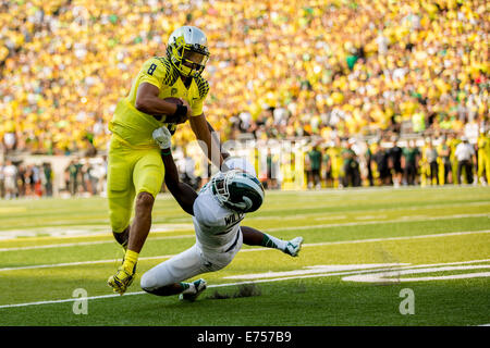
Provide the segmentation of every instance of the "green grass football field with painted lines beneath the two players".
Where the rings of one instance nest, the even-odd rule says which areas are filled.
[[[106,284],[123,252],[105,198],[0,201],[0,326],[486,325],[489,217],[488,187],[268,191],[243,225],[303,236],[299,257],[244,246],[189,303],[139,287],[194,244],[170,196],[124,296]]]

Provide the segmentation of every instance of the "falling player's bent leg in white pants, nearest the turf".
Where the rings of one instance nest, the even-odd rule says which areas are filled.
[[[142,289],[157,296],[183,294],[183,299],[195,300],[206,289],[206,282],[197,279],[192,283],[183,281],[206,272],[199,248],[189,249],[156,265],[140,279]]]

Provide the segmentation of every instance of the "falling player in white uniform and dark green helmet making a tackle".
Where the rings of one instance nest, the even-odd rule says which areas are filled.
[[[183,281],[226,266],[242,244],[275,248],[297,257],[303,238],[281,240],[255,228],[241,226],[245,213],[256,211],[264,201],[264,188],[254,167],[244,159],[228,158],[225,173],[219,172],[197,194],[179,181],[170,150],[171,135],[166,127],[154,132],[162,149],[164,181],[184,211],[193,215],[196,244],[189,249],[156,265],[140,279],[142,288],[154,295],[180,294],[180,299],[194,301],[206,289],[206,281]]]

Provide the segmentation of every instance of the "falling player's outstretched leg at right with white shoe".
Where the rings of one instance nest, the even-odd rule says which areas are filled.
[[[282,240],[267,233],[248,226],[241,226],[243,243],[247,246],[259,246],[281,250],[292,257],[297,257],[303,244],[303,237]]]

